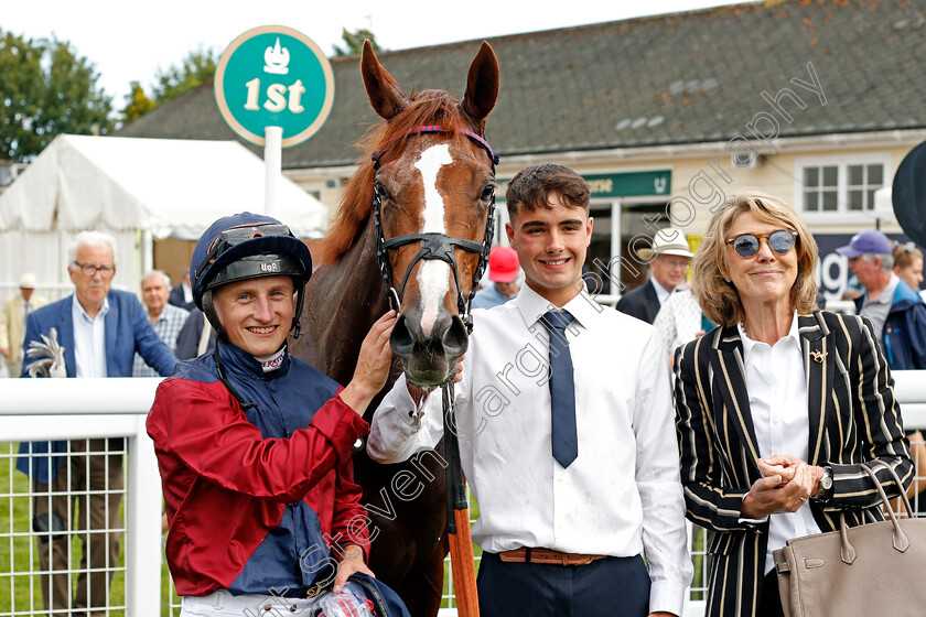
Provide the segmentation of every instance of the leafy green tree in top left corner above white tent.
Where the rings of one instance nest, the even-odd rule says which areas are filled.
[[[28,161],[60,133],[106,133],[111,99],[71,43],[0,31],[0,158]]]

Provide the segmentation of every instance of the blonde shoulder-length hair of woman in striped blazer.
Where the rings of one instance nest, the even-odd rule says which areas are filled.
[[[730,282],[730,249],[728,234],[733,220],[744,213],[763,221],[780,225],[797,231],[797,279],[792,288],[790,300],[798,314],[806,314],[817,307],[817,241],[794,209],[783,201],[756,192],[744,192],[730,196],[718,209],[694,253],[691,270],[691,291],[698,297],[701,310],[710,321],[721,326],[732,326],[743,321],[743,303],[740,293]],[[736,257],[736,259],[740,259]]]

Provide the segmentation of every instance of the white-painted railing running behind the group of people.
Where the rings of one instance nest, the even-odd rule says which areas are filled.
[[[926,429],[926,371],[893,375],[906,426]],[[3,442],[128,439],[125,595],[129,617],[161,615],[161,585],[158,584],[162,572],[161,480],[154,448],[144,430],[159,382],[157,378],[4,379],[0,382]],[[12,523],[0,520],[0,529],[12,529]],[[694,588],[703,591],[699,582]],[[441,613],[452,615],[454,610]],[[701,599],[686,606],[685,617],[703,614]]]

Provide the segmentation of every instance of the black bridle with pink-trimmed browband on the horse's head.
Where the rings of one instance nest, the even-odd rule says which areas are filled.
[[[483,148],[486,151],[486,153],[488,153],[488,158],[492,161],[492,176],[495,177],[495,165],[498,164],[498,155],[492,152],[492,147],[488,145],[488,142],[482,136],[469,129],[456,129],[456,131],[470,138],[473,142]],[[414,129],[409,129],[402,134],[390,139],[383,145],[383,148],[373,153],[372,158],[374,169],[379,169],[380,158],[383,156],[384,152],[386,152],[386,150],[389,148],[389,145],[391,145],[396,140],[421,133],[442,132],[452,131],[450,129],[444,129],[440,125],[427,125],[422,127],[417,127]],[[483,272],[485,272],[485,267],[488,262],[488,252],[492,249],[492,238],[495,234],[495,191],[493,190],[492,196],[488,199],[488,219],[486,220],[485,237],[483,238],[482,242],[464,240],[462,238],[453,238],[451,236],[448,236],[446,234],[433,232],[408,234],[405,236],[396,236],[395,238],[389,238],[387,240],[383,235],[383,220],[380,215],[381,203],[385,197],[385,191],[380,185],[377,184],[373,191],[373,212],[376,221],[376,259],[379,262],[379,273],[383,275],[383,283],[386,288],[386,297],[389,301],[389,306],[398,313],[399,307],[401,306],[401,299],[399,296],[399,293],[396,291],[396,286],[392,282],[392,267],[389,264],[388,251],[389,249],[395,249],[405,245],[410,245],[412,242],[421,242],[421,250],[419,250],[418,255],[414,256],[414,259],[411,260],[411,263],[406,270],[405,277],[402,279],[402,293],[405,293],[406,283],[408,283],[408,278],[411,274],[411,271],[414,269],[414,266],[419,261],[438,259],[440,261],[446,262],[453,271],[453,282],[456,284],[456,308],[460,312],[461,318],[463,320],[463,323],[466,326],[466,333],[472,333],[473,317],[471,315],[471,307],[473,303],[473,296],[476,294],[476,286],[480,282],[480,279],[482,279]],[[473,281],[470,285],[470,294],[466,299],[463,297],[463,292],[460,288],[460,277],[456,272],[456,260],[453,257],[454,247],[460,247],[465,251],[475,252],[480,256],[480,262],[478,266],[476,266],[476,271],[473,273]]]

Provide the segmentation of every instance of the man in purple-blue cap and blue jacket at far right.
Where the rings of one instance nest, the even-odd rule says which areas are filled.
[[[865,288],[855,308],[871,320],[891,368],[926,368],[926,304],[893,272],[893,246],[887,236],[868,229],[836,250],[849,259],[849,268]]]

